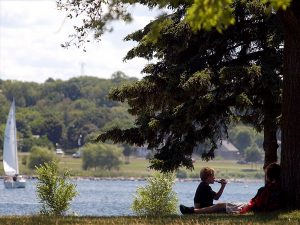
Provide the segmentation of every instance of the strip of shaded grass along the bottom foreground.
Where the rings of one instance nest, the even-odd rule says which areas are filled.
[[[164,218],[145,217],[0,217],[1,225],[296,225],[300,224],[300,211],[260,213],[246,215],[192,215],[192,216],[172,216]]]

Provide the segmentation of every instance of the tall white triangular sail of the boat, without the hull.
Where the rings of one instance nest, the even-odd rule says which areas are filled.
[[[6,122],[3,145],[3,167],[5,174],[8,176],[19,174],[17,152],[15,101],[13,101]]]

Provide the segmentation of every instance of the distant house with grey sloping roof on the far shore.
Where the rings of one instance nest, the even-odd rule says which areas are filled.
[[[222,140],[215,150],[216,156],[221,156],[223,159],[239,160],[239,150],[228,140]]]

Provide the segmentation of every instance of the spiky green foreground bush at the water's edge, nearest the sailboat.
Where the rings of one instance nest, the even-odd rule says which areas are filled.
[[[44,163],[37,167],[37,196],[42,203],[41,214],[63,215],[70,207],[70,202],[77,195],[76,185],[67,181],[69,172],[58,175],[56,162]]]

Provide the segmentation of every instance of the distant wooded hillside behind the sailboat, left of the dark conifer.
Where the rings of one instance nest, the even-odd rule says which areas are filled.
[[[74,151],[100,131],[131,127],[127,105],[107,98],[113,87],[137,81],[121,71],[111,79],[82,76],[67,81],[49,78],[42,84],[0,79],[0,149],[9,107],[16,102],[19,151],[33,146],[59,146]]]

